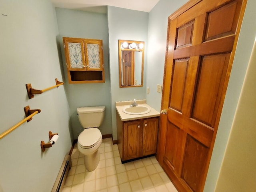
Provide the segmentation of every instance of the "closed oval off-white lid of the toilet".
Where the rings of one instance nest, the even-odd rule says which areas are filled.
[[[91,148],[100,141],[101,137],[98,128],[87,128],[78,136],[78,143],[82,148]]]

